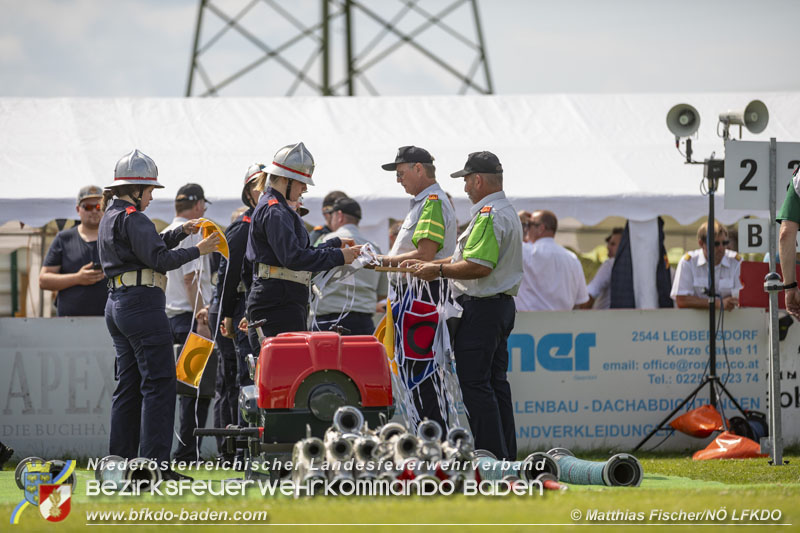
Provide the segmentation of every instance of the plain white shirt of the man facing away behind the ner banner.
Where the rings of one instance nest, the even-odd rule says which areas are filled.
[[[517,311],[566,311],[589,300],[578,256],[552,237],[522,245]]]

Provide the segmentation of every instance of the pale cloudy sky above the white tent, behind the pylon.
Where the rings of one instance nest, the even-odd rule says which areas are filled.
[[[362,1],[387,19],[404,9],[399,0]],[[269,2],[253,0],[242,26],[274,48],[297,30]],[[228,14],[248,3],[213,1]],[[273,3],[298,23],[312,25],[319,19],[319,0]],[[420,0],[417,6],[435,13],[451,4]],[[198,5],[198,0],[0,0],[0,97],[183,96]],[[797,0],[479,0],[478,9],[497,94],[800,90]],[[354,46],[362,50],[379,28],[361,11],[354,18]],[[459,5],[442,20],[474,38],[471,4]],[[412,10],[397,27],[410,32],[423,21]],[[204,10],[201,44],[221,24]],[[341,17],[331,29],[331,68],[333,78],[341,80]],[[393,40],[386,36],[375,52]],[[289,62],[309,58],[315,45],[306,41],[289,49]],[[418,42],[461,70],[475,57],[436,28],[422,32]],[[262,56],[252,42],[229,31],[200,59],[216,84]],[[311,73],[318,76],[320,70],[317,59]],[[407,45],[364,77],[381,95],[456,94],[461,87]],[[292,79],[271,60],[219,94],[282,96]],[[199,78],[194,87],[193,94],[204,90]],[[357,82],[356,93],[370,94],[368,85]],[[294,94],[315,92],[301,84]]]

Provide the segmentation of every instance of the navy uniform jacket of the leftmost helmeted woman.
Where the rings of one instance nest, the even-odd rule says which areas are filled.
[[[115,199],[100,220],[97,244],[106,277],[152,268],[165,274],[200,257],[196,246],[172,250],[186,234],[177,227],[159,235],[153,222],[133,204]]]

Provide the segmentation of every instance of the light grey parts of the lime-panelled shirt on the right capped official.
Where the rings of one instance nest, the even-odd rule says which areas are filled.
[[[490,210],[484,208],[490,207]],[[482,211],[484,210],[484,211]],[[483,278],[478,279],[454,279],[453,293],[456,296],[467,294],[478,298],[494,296],[495,294],[517,294],[519,284],[522,281],[522,224],[519,215],[508,201],[503,191],[489,194],[480,202],[474,204],[469,214],[472,221],[464,233],[458,237],[458,245],[452,262],[458,262],[463,258],[464,249],[469,241],[472,228],[481,216],[491,216],[492,230],[497,240],[497,264],[468,257],[467,261],[478,263],[492,269],[492,272]]]

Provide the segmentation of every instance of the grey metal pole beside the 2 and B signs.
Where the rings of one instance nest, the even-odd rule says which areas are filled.
[[[775,272],[775,211],[777,188],[777,143],[769,140],[769,271]],[[769,439],[773,465],[783,464],[783,439],[781,438],[781,358],[778,337],[778,292],[769,293]]]

